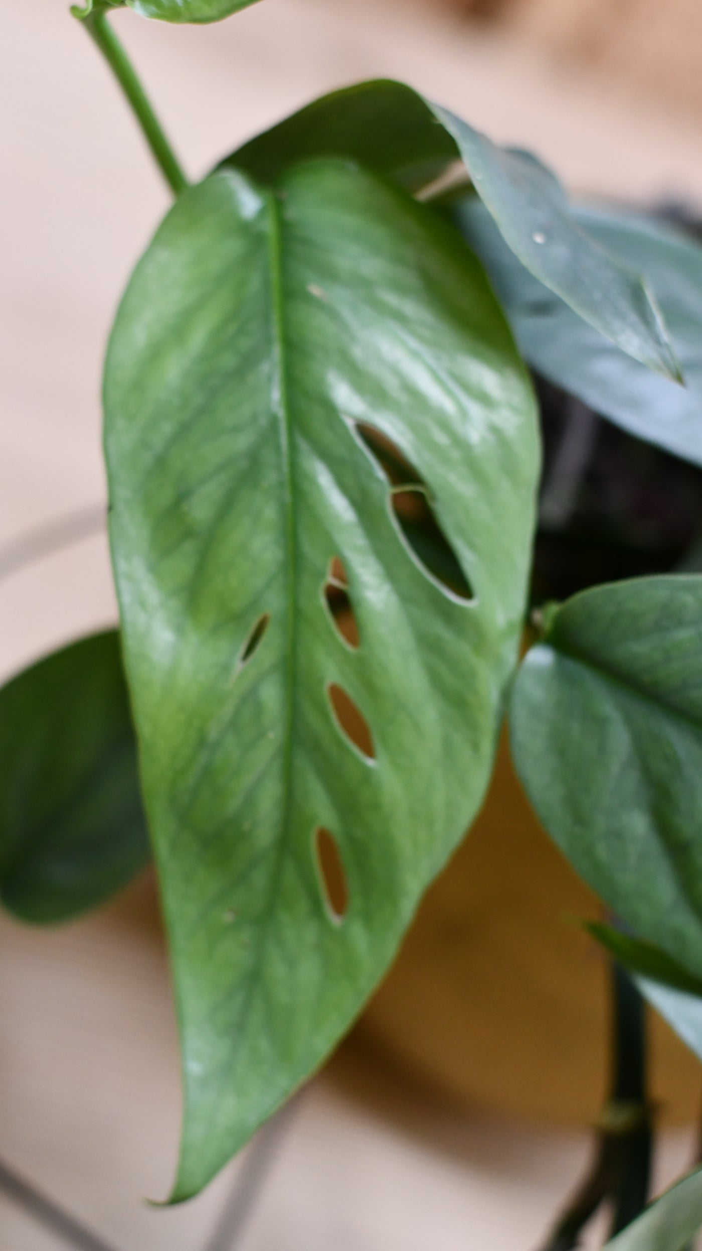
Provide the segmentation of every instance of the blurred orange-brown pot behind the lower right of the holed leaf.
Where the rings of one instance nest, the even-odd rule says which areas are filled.
[[[578,919],[601,909],[541,829],[506,743],[470,837],[430,889],[360,1031],[465,1103],[592,1122],[607,1090],[607,960]],[[653,1012],[652,1097],[697,1117],[697,1060]]]

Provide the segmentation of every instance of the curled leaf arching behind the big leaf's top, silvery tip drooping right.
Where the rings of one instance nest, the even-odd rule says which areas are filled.
[[[680,380],[658,310],[635,270],[581,229],[558,180],[401,83],[361,83],[315,100],[245,144],[229,164],[275,178],[306,156],[351,156],[417,190],[462,160],[506,244],[550,290],[623,352]]]

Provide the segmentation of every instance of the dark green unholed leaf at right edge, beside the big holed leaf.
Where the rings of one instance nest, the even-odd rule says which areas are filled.
[[[702,577],[596,587],[547,614],[512,701],[546,829],[638,938],[702,977]]]

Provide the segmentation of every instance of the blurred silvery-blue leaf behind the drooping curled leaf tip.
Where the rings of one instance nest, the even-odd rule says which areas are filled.
[[[638,214],[575,208],[577,221],[655,293],[686,385],[651,373],[577,318],[505,245],[473,195],[451,215],[478,253],[517,343],[540,374],[638,438],[702,464],[702,246]]]

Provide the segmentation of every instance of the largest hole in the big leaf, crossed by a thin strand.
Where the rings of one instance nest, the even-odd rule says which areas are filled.
[[[357,430],[392,487],[392,512],[418,564],[460,599],[472,599],[472,587],[435,517],[430,490],[421,475],[375,427],[358,423]]]

